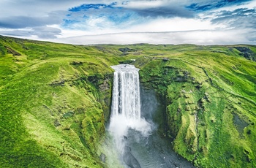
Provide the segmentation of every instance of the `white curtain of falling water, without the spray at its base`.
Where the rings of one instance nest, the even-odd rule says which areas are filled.
[[[113,79],[112,115],[123,115],[127,121],[140,120],[139,69],[121,64],[111,66],[116,70]]]

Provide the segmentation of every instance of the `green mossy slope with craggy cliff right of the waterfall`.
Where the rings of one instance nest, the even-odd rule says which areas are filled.
[[[255,62],[233,46],[173,49],[143,58],[140,75],[165,96],[174,150],[197,167],[256,167]]]

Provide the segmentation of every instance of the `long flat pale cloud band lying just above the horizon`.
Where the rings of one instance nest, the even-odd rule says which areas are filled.
[[[99,34],[82,37],[57,39],[56,42],[72,44],[197,44],[197,45],[227,45],[236,43],[250,43],[244,37],[243,30],[237,31],[177,31],[177,32],[148,32],[148,33],[120,33]]]

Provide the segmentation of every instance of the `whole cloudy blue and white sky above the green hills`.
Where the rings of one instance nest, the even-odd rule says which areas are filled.
[[[256,0],[1,0],[0,34],[76,45],[256,45]]]

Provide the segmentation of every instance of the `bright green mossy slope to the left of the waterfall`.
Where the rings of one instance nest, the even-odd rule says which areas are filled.
[[[7,37],[0,45],[1,167],[102,167],[96,145],[118,62],[94,47]]]

